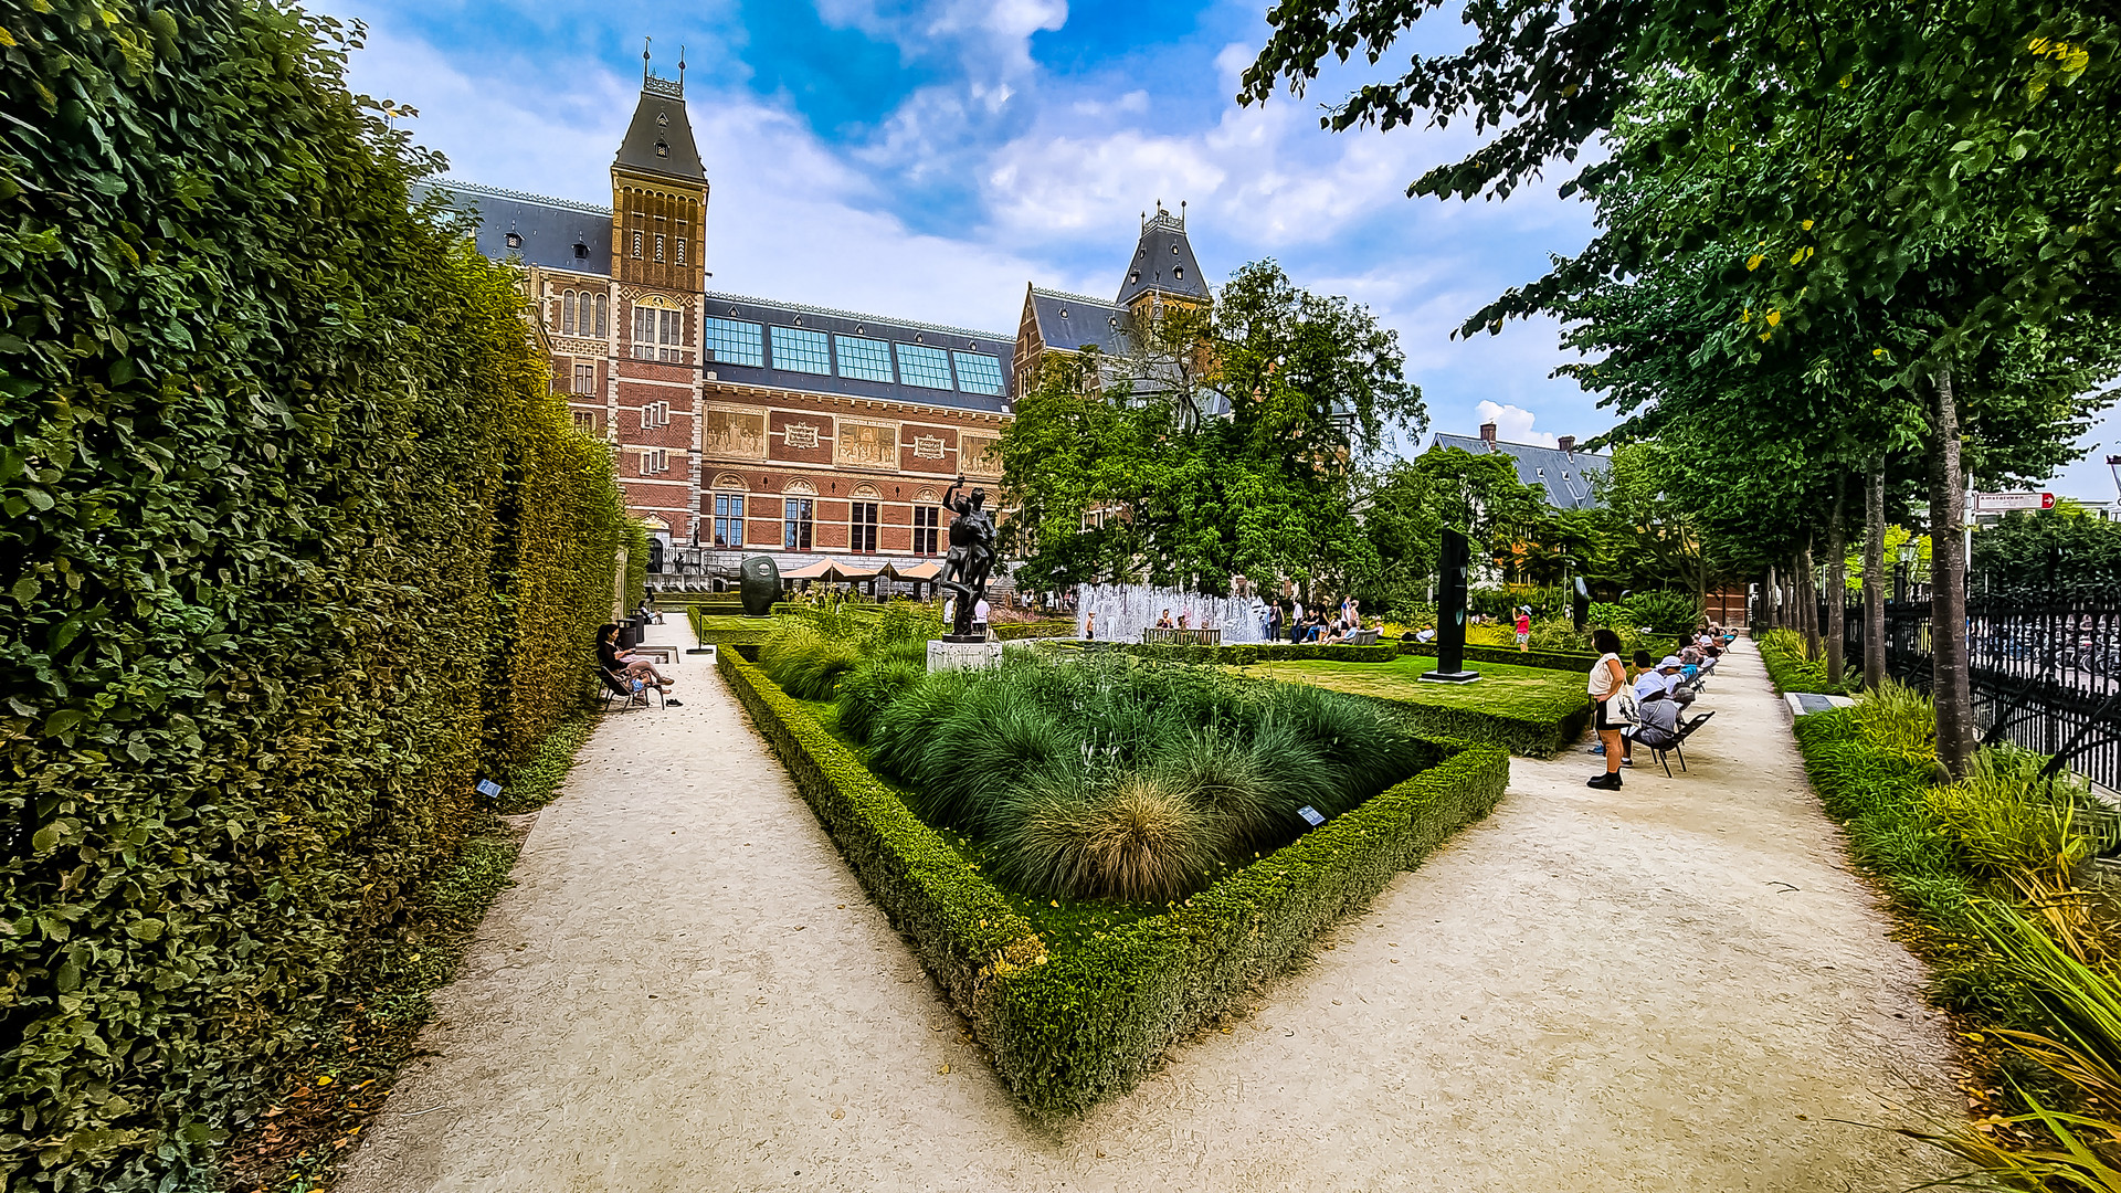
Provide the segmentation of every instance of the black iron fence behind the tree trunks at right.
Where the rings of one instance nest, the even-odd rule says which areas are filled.
[[[1820,609],[1826,624],[1826,609]],[[1845,607],[1847,664],[1862,667],[1862,603]],[[1886,603],[1886,673],[1928,690],[1936,626],[1928,601]],[[2121,601],[1966,603],[1966,673],[1983,739],[2015,741],[2121,790]]]

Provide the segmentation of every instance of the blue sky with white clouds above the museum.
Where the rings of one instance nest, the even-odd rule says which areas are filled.
[[[1432,431],[1553,442],[1612,425],[1546,374],[1550,323],[1453,342],[1449,331],[1591,212],[1527,187],[1502,204],[1408,200],[1461,157],[1463,129],[1328,134],[1319,102],[1239,108],[1266,0],[327,0],[369,25],[352,85],[420,110],[450,174],[609,202],[609,163],[641,87],[685,53],[685,98],[713,183],[717,289],[1014,333],[1027,282],[1109,297],[1139,212],[1188,204],[1215,278],[1275,257],[1313,291],[1398,329]],[[1423,21],[1455,49],[1455,21]],[[2121,452],[2121,427],[2087,439]],[[2064,492],[2113,497],[2104,465]]]

